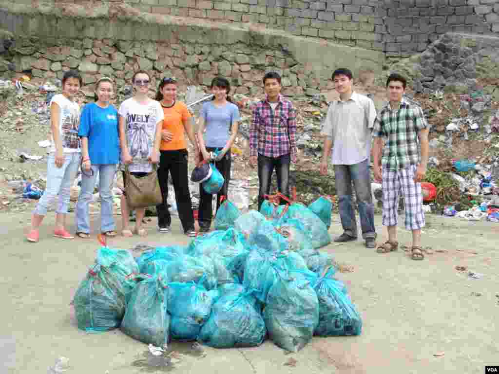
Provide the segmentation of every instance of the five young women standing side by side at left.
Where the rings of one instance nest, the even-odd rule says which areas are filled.
[[[150,82],[147,72],[137,71],[132,77],[133,97],[123,101],[116,109],[110,103],[115,91],[113,81],[107,77],[100,78],[95,84],[95,102],[85,105],[80,114],[75,95],[82,84],[81,76],[75,70],[64,74],[62,93],[54,95],[50,102],[52,139],[47,161],[47,185],[33,211],[28,241],[39,240],[38,228],[57,195],[53,235],[64,239],[74,238],[65,228],[65,217],[70,187],[78,169],[81,169],[81,190],[76,203],[76,235],[80,238],[90,236],[88,206],[97,175],[101,198],[100,232],[107,236],[117,235],[112,199],[116,172],[122,171],[126,186],[126,168],[130,175],[142,178],[153,171],[155,164],[159,164],[158,181],[163,195],[163,202],[156,207],[158,230],[164,233],[170,230],[167,198],[168,179],[171,176],[184,232],[191,237],[196,235],[185,134],[194,145],[196,164],[202,158],[208,160],[210,151],[219,151],[215,162],[225,178],[220,194],[227,194],[230,150],[237,134],[239,110],[231,102],[229,81],[222,77],[215,78],[211,87],[214,98],[203,105],[196,137],[186,104],[177,101],[176,80],[168,77],[162,79],[155,100],[148,96]],[[200,194],[200,230],[208,231],[213,215],[212,195],[201,186]],[[136,222],[132,229],[125,188],[121,196],[123,236],[147,234],[142,227],[145,208],[137,208],[135,212]]]

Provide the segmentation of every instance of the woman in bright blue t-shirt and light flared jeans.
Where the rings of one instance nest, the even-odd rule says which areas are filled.
[[[92,200],[95,178],[99,176],[101,198],[101,232],[115,236],[113,195],[111,188],[119,162],[118,111],[109,103],[114,93],[110,78],[100,78],[95,86],[95,103],[81,112],[81,191],[76,204],[76,235],[88,238],[90,222],[88,204]]]

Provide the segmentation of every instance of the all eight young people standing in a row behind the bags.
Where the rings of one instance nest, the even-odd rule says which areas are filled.
[[[371,157],[374,179],[383,187],[383,225],[388,228],[388,240],[378,246],[378,253],[398,248],[397,208],[400,192],[405,199],[405,226],[412,231],[412,258],[424,258],[421,249],[421,228],[425,225],[421,184],[428,162],[428,124],[420,107],[403,99],[406,79],[391,74],[386,86],[388,103],[376,113],[373,101],[353,91],[353,76],[349,69],[337,69],[332,74],[339,99],[328,108],[323,124],[323,156],[319,170],[327,174],[328,164],[334,166],[336,189],[343,233],[337,242],[357,239],[357,223],[352,204],[352,184],[360,215],[362,237],[368,248],[376,247],[374,206],[371,193]],[[65,228],[70,187],[81,168],[81,191],[76,205],[76,235],[88,238],[90,233],[88,205],[92,198],[95,178],[99,176],[101,197],[101,232],[115,236],[112,184],[117,170],[125,168],[141,178],[159,163],[158,180],[163,203],[157,206],[158,230],[169,232],[171,216],[167,206],[168,179],[172,178],[179,218],[184,232],[195,236],[188,177],[188,151],[185,134],[194,146],[195,163],[214,162],[224,177],[217,196],[227,195],[231,176],[231,148],[238,132],[240,114],[230,98],[231,85],[223,77],[211,84],[213,100],[201,109],[195,133],[191,114],[185,103],[177,101],[177,82],[166,77],[159,83],[155,100],[148,97],[150,76],[138,71],[132,77],[134,95],[121,103],[117,110],[110,100],[114,84],[110,78],[100,78],[95,85],[95,102],[87,104],[80,115],[74,98],[81,86],[77,71],[70,70],[62,79],[62,93],[50,103],[52,145],[47,162],[47,186],[33,211],[27,239],[37,242],[38,227],[47,208],[59,195],[53,235],[72,239]],[[281,91],[281,77],[276,72],[264,75],[265,99],[253,108],[250,126],[250,164],[258,168],[258,209],[270,192],[275,169],[277,188],[289,195],[289,168],[296,162],[296,110]],[[374,138],[374,142],[372,140]],[[331,152],[332,151],[332,152]],[[330,154],[331,160],[329,161]],[[217,155],[212,159],[212,155]],[[124,191],[125,193],[125,191]],[[142,227],[145,208],[136,209],[136,223],[129,225],[126,196],[121,197],[123,236],[144,236]],[[213,218],[212,195],[200,185],[199,231],[208,232]]]

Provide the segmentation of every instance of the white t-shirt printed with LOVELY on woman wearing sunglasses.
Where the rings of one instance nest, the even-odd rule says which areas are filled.
[[[130,172],[151,172],[152,166],[147,159],[154,148],[156,126],[163,121],[161,104],[155,100],[139,104],[132,97],[121,103],[118,114],[125,119],[128,152],[133,159]]]

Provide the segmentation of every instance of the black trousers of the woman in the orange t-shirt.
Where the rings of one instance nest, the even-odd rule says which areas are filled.
[[[194,215],[192,212],[191,192],[189,191],[188,152],[186,149],[175,151],[160,151],[158,180],[163,194],[163,203],[156,205],[158,226],[167,227],[172,223],[172,217],[167,207],[168,174],[172,175],[175,201],[179,218],[184,231],[194,230]]]

